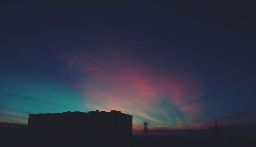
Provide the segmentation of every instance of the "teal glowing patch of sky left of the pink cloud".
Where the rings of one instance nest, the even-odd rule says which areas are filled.
[[[79,93],[43,75],[11,73],[0,77],[0,121],[27,124],[31,113],[85,111]]]

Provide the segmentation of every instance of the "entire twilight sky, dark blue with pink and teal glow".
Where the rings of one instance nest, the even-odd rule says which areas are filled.
[[[0,122],[119,110],[150,129],[256,120],[252,2],[0,3]]]

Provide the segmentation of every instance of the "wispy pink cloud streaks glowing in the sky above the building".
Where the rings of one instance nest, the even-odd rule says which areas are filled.
[[[84,104],[86,107],[116,109],[136,117],[146,116],[160,124],[165,120],[154,116],[159,113],[167,115],[158,103],[163,98],[180,106],[181,111],[191,114],[191,117],[202,110],[203,103],[182,105],[201,96],[199,78],[195,73],[158,71],[129,52],[124,54],[112,49],[104,53],[100,58],[92,53],[62,53],[59,57],[66,63],[67,70],[82,74],[76,80],[79,82],[70,83],[90,99]],[[193,124],[193,118],[190,119],[189,123]],[[184,127],[180,118],[176,121],[176,127]]]

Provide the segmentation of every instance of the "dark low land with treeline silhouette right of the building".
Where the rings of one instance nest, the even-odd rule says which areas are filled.
[[[216,123],[208,129],[160,132],[165,132],[165,135],[133,136],[132,146],[256,146],[254,125],[218,127]]]

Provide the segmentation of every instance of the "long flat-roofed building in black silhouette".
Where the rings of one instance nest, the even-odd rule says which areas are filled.
[[[30,114],[28,129],[32,143],[41,146],[125,146],[132,139],[132,115],[116,110]]]

